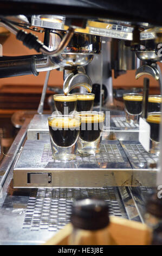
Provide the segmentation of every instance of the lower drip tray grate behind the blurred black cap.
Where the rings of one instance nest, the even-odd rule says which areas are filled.
[[[117,187],[104,188],[38,188],[31,190],[23,228],[57,231],[70,222],[73,201],[100,197],[109,206],[109,215],[127,218]]]

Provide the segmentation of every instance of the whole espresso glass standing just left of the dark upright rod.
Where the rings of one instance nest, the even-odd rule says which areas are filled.
[[[126,121],[128,123],[138,123],[142,112],[143,96],[139,93],[127,93],[123,95]]]

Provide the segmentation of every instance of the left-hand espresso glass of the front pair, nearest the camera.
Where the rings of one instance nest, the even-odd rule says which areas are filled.
[[[48,117],[51,151],[54,159],[75,159],[75,143],[79,138],[81,118],[76,115]]]

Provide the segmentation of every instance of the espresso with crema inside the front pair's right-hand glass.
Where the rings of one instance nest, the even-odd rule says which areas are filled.
[[[79,116],[81,117],[80,138],[87,142],[96,141],[103,130],[105,115],[79,114]]]

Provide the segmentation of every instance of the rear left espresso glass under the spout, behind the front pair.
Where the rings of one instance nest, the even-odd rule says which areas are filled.
[[[73,114],[76,109],[77,96],[73,94],[55,94],[54,105],[57,114]]]

